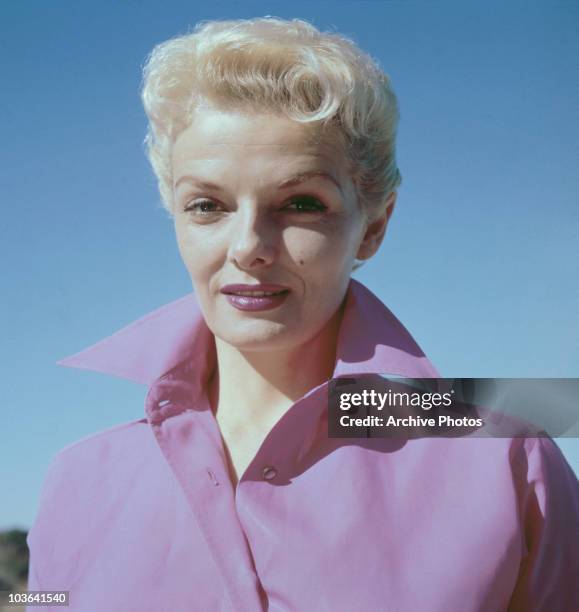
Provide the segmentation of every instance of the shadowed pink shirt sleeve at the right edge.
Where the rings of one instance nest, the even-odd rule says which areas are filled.
[[[524,440],[516,471],[525,555],[509,612],[579,610],[579,482],[549,437]]]

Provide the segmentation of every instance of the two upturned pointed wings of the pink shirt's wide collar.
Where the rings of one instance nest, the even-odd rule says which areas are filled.
[[[202,383],[214,363],[215,338],[194,293],[57,362],[149,386],[184,365],[196,382]],[[359,281],[350,279],[333,378],[363,373],[439,376],[392,312]]]

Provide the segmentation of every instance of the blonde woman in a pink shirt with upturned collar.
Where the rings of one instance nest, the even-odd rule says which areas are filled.
[[[579,609],[577,480],[549,439],[329,438],[328,381],[436,377],[351,279],[400,175],[396,99],[303,21],[153,51],[148,154],[194,295],[59,363],[148,385],[62,450],[29,589],[73,610]]]

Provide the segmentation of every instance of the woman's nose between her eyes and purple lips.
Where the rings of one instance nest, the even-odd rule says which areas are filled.
[[[255,206],[240,206],[231,224],[229,259],[239,268],[267,267],[275,259],[275,228]]]

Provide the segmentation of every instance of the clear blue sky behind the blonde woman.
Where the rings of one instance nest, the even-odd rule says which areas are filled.
[[[146,55],[268,14],[354,39],[398,94],[403,184],[355,278],[443,376],[579,376],[579,3],[2,2],[0,528],[31,525],[58,450],[144,416],[146,388],[55,362],[191,290],[143,152]]]

